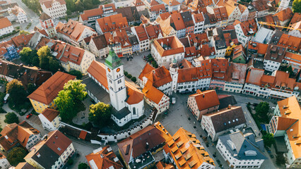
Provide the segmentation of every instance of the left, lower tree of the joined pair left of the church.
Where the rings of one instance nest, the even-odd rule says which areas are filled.
[[[59,109],[59,116],[62,121],[70,121],[76,116],[76,111],[74,111],[74,102],[71,91],[61,90],[57,94],[57,98],[54,99],[54,103]]]

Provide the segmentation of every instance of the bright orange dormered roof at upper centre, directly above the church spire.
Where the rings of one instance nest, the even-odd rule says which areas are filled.
[[[126,17],[122,16],[122,13],[116,15],[110,15],[104,18],[99,18],[96,22],[100,25],[103,33],[113,32],[124,27],[129,27]]]

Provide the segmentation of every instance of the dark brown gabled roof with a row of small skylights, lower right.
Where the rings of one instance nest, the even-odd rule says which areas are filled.
[[[203,116],[211,118],[211,122],[216,133],[247,122],[244,118],[242,107],[240,106],[224,108],[216,113],[209,113]]]

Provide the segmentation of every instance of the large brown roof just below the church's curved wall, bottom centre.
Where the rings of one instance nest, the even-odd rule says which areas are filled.
[[[148,127],[131,134],[128,138],[119,142],[117,146],[124,157],[124,161],[129,163],[131,159],[170,140],[170,134],[166,133],[163,128],[163,125],[157,122],[154,125],[148,125]],[[148,146],[146,146],[146,143],[148,143]]]

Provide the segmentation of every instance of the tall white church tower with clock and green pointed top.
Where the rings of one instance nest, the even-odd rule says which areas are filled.
[[[126,106],[124,66],[112,48],[110,49],[109,56],[105,59],[105,68],[111,104],[117,111],[120,111]]]

